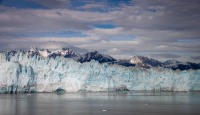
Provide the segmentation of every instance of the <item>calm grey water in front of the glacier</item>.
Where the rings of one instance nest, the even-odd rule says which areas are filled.
[[[200,115],[200,93],[1,94],[0,115]]]

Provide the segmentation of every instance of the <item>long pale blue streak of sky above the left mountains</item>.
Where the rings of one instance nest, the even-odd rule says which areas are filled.
[[[18,37],[87,37],[88,35],[76,31],[38,32],[17,34]]]

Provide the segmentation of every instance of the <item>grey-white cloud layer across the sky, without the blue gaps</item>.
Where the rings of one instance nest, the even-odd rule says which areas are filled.
[[[54,2],[49,2],[46,6],[53,7],[51,5]],[[59,1],[56,4],[59,6],[61,2],[67,4],[68,1]],[[46,4],[47,1],[40,3]],[[82,8],[98,8],[104,5],[107,4],[90,3]],[[75,11],[62,9],[61,6],[60,9],[0,6],[0,45],[1,49],[25,48],[55,41],[118,56],[130,56],[134,52],[182,52],[196,56],[200,53],[199,7],[198,0],[136,0],[134,6],[122,5],[110,12]],[[113,24],[116,27],[102,29],[92,27],[94,24]],[[23,33],[59,31],[78,31],[88,37],[16,37]],[[120,35],[129,35],[133,39],[109,39]]]

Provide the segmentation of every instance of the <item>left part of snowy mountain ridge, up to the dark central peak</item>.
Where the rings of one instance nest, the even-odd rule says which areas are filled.
[[[22,51],[12,50],[9,51],[8,54],[13,56],[16,53],[20,53]],[[116,59],[109,55],[101,54],[97,51],[94,52],[87,52],[85,54],[78,54],[71,48],[62,48],[57,50],[49,50],[49,49],[38,49],[38,48],[30,48],[27,51],[23,51],[23,53],[26,53],[29,56],[38,55],[41,57],[48,57],[48,58],[56,58],[56,57],[64,57],[64,58],[72,58],[77,62],[90,62],[91,60],[98,61],[99,63],[105,63],[105,62],[114,62]]]

